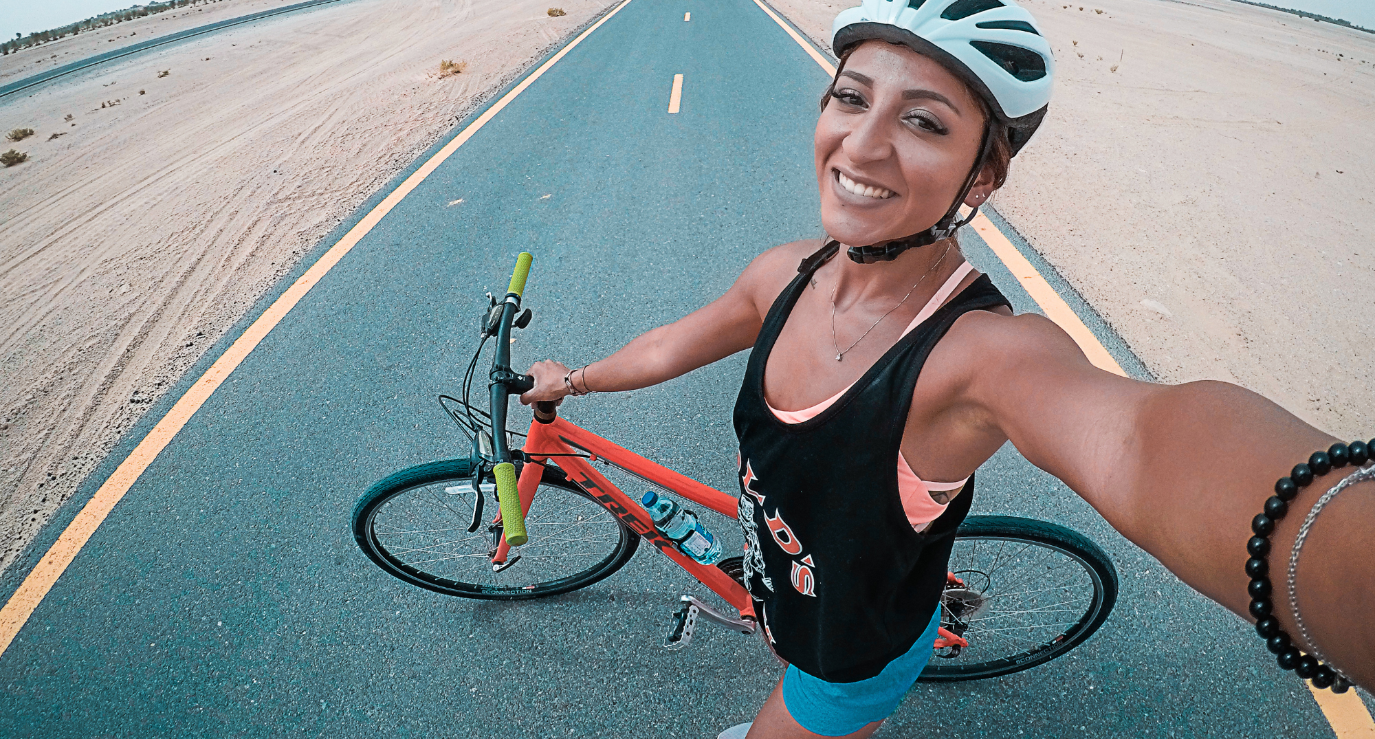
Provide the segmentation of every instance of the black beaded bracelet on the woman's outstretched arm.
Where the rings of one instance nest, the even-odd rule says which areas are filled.
[[[1280,669],[1294,670],[1304,680],[1312,680],[1314,688],[1332,688],[1332,692],[1346,692],[1352,684],[1330,665],[1323,665],[1316,657],[1302,654],[1292,644],[1290,635],[1284,633],[1280,622],[1273,615],[1275,606],[1270,602],[1269,562],[1266,555],[1270,551],[1270,533],[1275,532],[1275,522],[1288,512],[1288,503],[1294,500],[1301,488],[1313,484],[1314,477],[1326,475],[1332,470],[1348,464],[1360,467],[1372,459],[1375,438],[1370,442],[1353,441],[1348,444],[1334,444],[1326,452],[1313,452],[1308,457],[1308,464],[1295,464],[1288,477],[1282,477],[1275,482],[1275,494],[1265,501],[1265,512],[1251,519],[1251,532],[1255,534],[1246,543],[1246,574],[1251,578],[1247,592],[1251,595],[1251,615],[1255,621],[1255,633],[1265,639],[1265,648],[1276,655]]]

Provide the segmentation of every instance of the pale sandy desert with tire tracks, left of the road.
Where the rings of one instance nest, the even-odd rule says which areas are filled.
[[[0,81],[283,4],[67,37]],[[4,130],[37,130],[0,169],[0,566],[304,253],[606,5],[344,0],[0,99]]]

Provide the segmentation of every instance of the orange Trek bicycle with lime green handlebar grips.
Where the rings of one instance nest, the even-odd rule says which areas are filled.
[[[641,540],[654,545],[729,603],[722,613],[683,593],[664,646],[683,648],[698,618],[744,635],[756,618],[742,585],[742,559],[711,566],[685,555],[649,512],[594,463],[734,519],[737,499],[659,466],[536,402],[525,434],[506,429],[510,396],[534,380],[510,368],[510,335],[525,328],[521,308],[532,257],[521,253],[506,297],[488,294],[481,338],[459,398],[440,405],[468,435],[466,457],[408,467],[373,485],[353,507],[353,537],[399,580],[462,598],[516,600],[586,588],[630,562]],[[491,411],[470,402],[488,339]],[[494,433],[500,429],[505,433]],[[514,437],[524,437],[512,449]],[[498,511],[484,515],[494,497]],[[1082,534],[1044,521],[968,516],[956,533],[942,595],[940,637],[924,681],[996,677],[1055,659],[1084,643],[1116,602],[1116,570]]]

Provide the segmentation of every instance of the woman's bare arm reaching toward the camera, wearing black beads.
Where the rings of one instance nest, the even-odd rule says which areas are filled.
[[[960,343],[980,356],[968,391],[987,422],[1180,580],[1254,621],[1242,567],[1251,519],[1276,479],[1338,440],[1235,385],[1152,385],[1097,370],[1040,316],[967,319],[957,328],[972,341]],[[1304,488],[1270,536],[1275,615],[1299,648],[1290,552],[1313,503],[1352,471]],[[1364,687],[1375,687],[1372,521],[1375,484],[1346,489],[1316,519],[1297,573],[1309,635]],[[1260,637],[1255,648],[1269,658]]]

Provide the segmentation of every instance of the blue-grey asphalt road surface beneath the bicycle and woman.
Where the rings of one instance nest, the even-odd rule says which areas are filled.
[[[402,201],[143,474],[0,657],[0,735],[710,738],[748,720],[778,666],[710,626],[661,650],[674,598],[700,588],[653,548],[575,593],[473,602],[380,571],[348,514],[385,474],[465,452],[434,396],[456,389],[483,293],[517,251],[536,257],[517,363],[580,364],[715,298],[763,249],[820,235],[825,82],[749,0],[630,3]],[[1033,309],[976,236],[965,247]],[[733,492],[744,359],[565,415]],[[1008,449],[979,475],[975,512],[1086,533],[1121,599],[1063,659],[918,685],[880,736],[1332,736],[1250,626],[1057,481]]]

